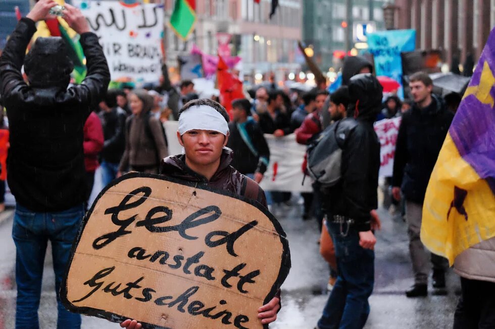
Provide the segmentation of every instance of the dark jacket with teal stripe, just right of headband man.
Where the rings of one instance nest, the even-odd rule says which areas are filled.
[[[229,123],[227,147],[234,151],[232,167],[241,174],[264,174],[270,161],[270,150],[263,131],[251,117],[243,123]]]

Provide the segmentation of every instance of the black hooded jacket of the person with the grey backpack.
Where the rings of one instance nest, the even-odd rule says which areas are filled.
[[[341,178],[324,188],[323,208],[330,220],[334,215],[353,219],[357,231],[369,231],[370,212],[378,207],[377,187],[380,169],[380,142],[373,129],[381,109],[382,87],[370,74],[360,74],[349,82],[351,104],[348,118],[357,125],[342,147]],[[359,102],[357,102],[359,100]]]

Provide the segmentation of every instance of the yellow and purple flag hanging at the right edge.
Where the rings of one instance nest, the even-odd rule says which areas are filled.
[[[495,29],[491,31],[430,177],[421,241],[452,265],[495,237]]]

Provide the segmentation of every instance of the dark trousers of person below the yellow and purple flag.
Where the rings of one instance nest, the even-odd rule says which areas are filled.
[[[454,329],[495,328],[495,283],[461,278]]]

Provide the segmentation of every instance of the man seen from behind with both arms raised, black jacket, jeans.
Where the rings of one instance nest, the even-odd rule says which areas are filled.
[[[8,181],[16,198],[16,328],[37,328],[47,240],[53,250],[58,301],[57,328],[80,328],[58,296],[72,242],[84,215],[83,126],[107,89],[110,73],[103,49],[81,12],[65,5],[64,19],[80,34],[87,76],[67,88],[73,63],[61,38],[38,38],[35,23],[57,4],[40,0],[22,18],[0,57],[0,94],[11,128]],[[28,83],[24,82],[21,67]]]

